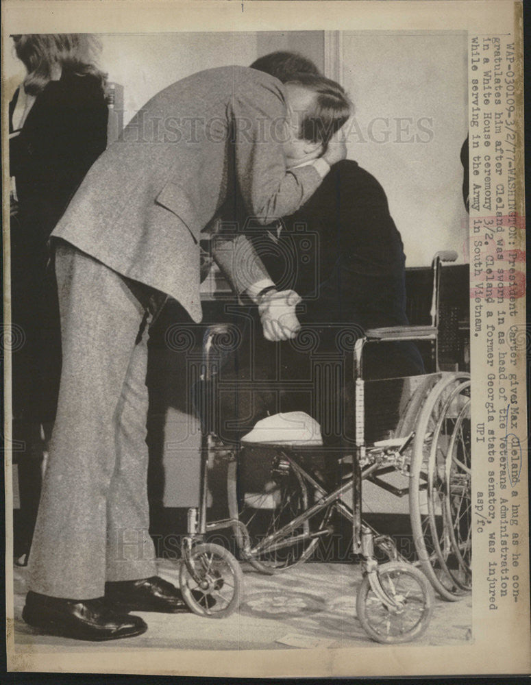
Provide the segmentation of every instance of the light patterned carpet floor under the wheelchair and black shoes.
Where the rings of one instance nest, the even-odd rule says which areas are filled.
[[[356,591],[361,582],[358,564],[308,563],[274,576],[243,566],[245,595],[238,612],[221,620],[195,614],[139,613],[149,630],[120,640],[121,649],[314,649],[315,647],[378,647],[356,618]],[[177,565],[160,562],[160,575],[178,584]],[[93,643],[37,634],[21,612],[25,598],[25,569],[14,569],[15,643],[20,647],[73,651],[94,649]],[[458,645],[471,639],[472,600],[436,598],[421,645]],[[97,643],[98,650],[116,643]]]

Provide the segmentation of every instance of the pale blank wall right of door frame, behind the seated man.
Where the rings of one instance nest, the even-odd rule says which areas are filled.
[[[384,187],[407,266],[429,264],[440,249],[467,261],[459,158],[467,136],[466,35],[344,32],[341,40],[341,80],[356,106],[349,158]]]

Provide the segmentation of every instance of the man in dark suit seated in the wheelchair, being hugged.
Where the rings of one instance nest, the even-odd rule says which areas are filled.
[[[297,72],[319,73],[294,53],[271,53],[251,66],[284,82]],[[284,146],[292,169],[307,163],[303,143]],[[233,209],[239,212],[241,207],[236,199]],[[294,340],[272,343],[258,334],[259,321],[251,309],[245,319],[237,317],[240,323],[234,323],[245,342],[227,357],[223,375],[242,385],[238,393],[221,399],[224,416],[227,421],[236,417],[240,436],[264,416],[304,411],[321,425],[325,444],[350,442],[354,342],[367,328],[408,324],[406,258],[382,186],[354,160],[342,160],[295,214],[267,231],[241,212],[234,218],[271,275],[271,281],[254,287],[269,289],[271,296],[275,285],[297,293],[301,330]],[[237,257],[234,261],[245,263]],[[423,371],[411,342],[388,343],[384,349],[375,345],[364,353],[365,377],[371,379]],[[249,390],[253,380],[259,390]],[[234,433],[227,429],[225,437]]]

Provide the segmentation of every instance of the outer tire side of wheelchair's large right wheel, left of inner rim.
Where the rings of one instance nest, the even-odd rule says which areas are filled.
[[[469,375],[445,374],[434,386],[417,421],[410,464],[410,518],[424,573],[443,599],[465,592],[466,572],[456,553],[446,510],[446,464],[462,407],[469,402]]]

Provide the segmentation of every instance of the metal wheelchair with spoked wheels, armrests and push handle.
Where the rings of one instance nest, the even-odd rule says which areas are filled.
[[[277,465],[282,466],[284,471],[287,469],[290,473],[294,473],[300,483],[305,482],[310,485],[317,501],[296,512],[291,520],[256,544],[254,540],[251,540],[247,525],[240,520],[238,512],[236,493],[238,450],[227,449],[219,441],[209,416],[211,408],[209,411],[209,407],[206,406],[208,400],[203,400],[206,429],[203,430],[201,438],[200,503],[199,508],[192,508],[188,512],[188,535],[183,543],[184,564],[182,564],[181,573],[183,595],[195,612],[213,617],[232,613],[238,606],[240,591],[243,587],[238,564],[232,555],[219,545],[203,543],[207,532],[231,527],[243,559],[249,561],[259,571],[273,573],[280,569],[275,568],[275,564],[264,564],[260,556],[264,553],[273,554],[281,549],[309,541],[308,547],[294,563],[306,560],[317,546],[319,538],[332,532],[332,528],[328,525],[332,510],[337,510],[352,525],[353,551],[360,555],[363,573],[362,586],[356,599],[358,617],[371,638],[380,642],[400,642],[417,638],[426,630],[433,606],[433,590],[427,577],[444,599],[455,600],[469,591],[471,588],[469,522],[468,531],[465,530],[467,522],[465,521],[464,525],[462,523],[463,515],[469,517],[470,500],[470,446],[466,444],[467,438],[463,434],[463,427],[466,426],[467,420],[469,421],[469,375],[458,372],[441,373],[436,368],[436,373],[421,377],[419,388],[410,398],[404,416],[400,417],[397,436],[391,440],[380,440],[367,446],[365,444],[366,381],[362,373],[362,352],[365,345],[398,340],[430,340],[432,360],[436,366],[441,262],[455,259],[455,253],[437,253],[432,263],[434,288],[431,325],[367,330],[354,345],[355,447],[353,473],[347,482],[338,486],[332,493],[326,493],[323,485],[297,463],[290,449],[281,445],[260,445],[260,447],[267,446],[274,449],[277,453]],[[227,336],[227,326],[210,326],[203,338],[202,378],[210,388],[217,382],[218,369],[217,364],[212,363],[212,356],[219,336],[222,338]],[[456,449],[458,457],[454,454]],[[352,448],[349,452],[352,452]],[[232,493],[229,492],[230,518],[207,523],[208,470],[214,456],[221,456],[227,460],[229,489],[233,488],[233,490]],[[408,488],[395,488],[381,479],[385,473],[395,470],[408,475],[410,481]],[[389,536],[378,535],[362,521],[361,484],[363,479],[369,479],[400,497],[409,495],[415,546],[425,575],[415,566],[406,564],[402,558],[399,558],[395,543]],[[452,509],[456,506],[454,502],[456,488],[460,488],[462,499],[465,499],[465,514],[461,511],[462,503],[458,503],[458,525],[452,525],[456,516],[456,512]],[[353,496],[352,508],[349,508],[342,500],[343,495],[349,490]],[[427,495],[427,516],[421,513],[420,495],[424,491]],[[307,499],[306,504],[308,504]],[[311,531],[310,521],[323,511],[325,518],[317,530]],[[297,532],[301,526],[302,532]],[[295,536],[292,535],[294,532]],[[464,540],[461,539],[463,535],[465,535]],[[389,562],[384,566],[378,566],[378,561],[374,556],[375,545],[389,558]],[[454,560],[452,568],[452,564],[449,564],[449,556],[452,556]],[[225,575],[233,581],[232,597],[226,603],[219,603],[219,598],[223,596],[221,588],[227,585],[225,579],[220,587],[219,577],[223,574],[217,571],[217,575],[214,574],[210,579],[205,577],[208,576],[214,559],[217,560],[218,566],[225,567]],[[457,571],[455,570],[456,560]],[[293,564],[286,564],[286,566],[291,565]],[[408,603],[407,594],[401,594],[397,590],[404,579],[407,581],[406,584],[415,586],[412,597],[416,597],[419,606],[414,606],[415,602],[411,600]],[[228,584],[231,585],[231,583]],[[201,601],[197,601],[199,592],[202,593],[199,597]],[[408,592],[412,592],[411,588]],[[210,603],[208,597],[211,598]],[[212,599],[215,601],[212,602]],[[375,605],[378,605],[376,618],[371,616],[371,608]],[[406,621],[407,625],[404,625],[404,621],[408,619],[412,610],[415,610],[415,620],[410,619],[409,622]],[[384,619],[380,618],[382,612]],[[409,625],[411,620],[413,623]]]

